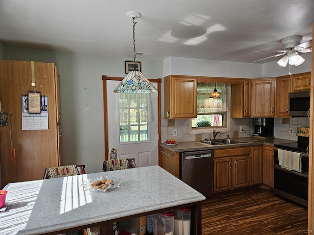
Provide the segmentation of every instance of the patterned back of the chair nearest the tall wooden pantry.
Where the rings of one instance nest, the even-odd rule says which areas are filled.
[[[43,179],[81,174],[85,174],[85,165],[62,165],[46,168]]]

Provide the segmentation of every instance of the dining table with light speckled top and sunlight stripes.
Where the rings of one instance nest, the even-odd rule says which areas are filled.
[[[90,190],[86,183],[113,179],[115,187]],[[206,186],[204,186],[206,187]],[[202,234],[204,195],[158,165],[9,183],[1,235],[57,235],[99,226],[113,234],[113,223],[191,207],[191,234]]]

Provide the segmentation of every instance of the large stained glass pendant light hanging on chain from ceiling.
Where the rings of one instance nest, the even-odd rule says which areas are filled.
[[[154,85],[136,69],[136,55],[135,55],[135,18],[141,17],[141,13],[135,11],[129,11],[126,14],[132,18],[133,22],[133,58],[134,69],[131,70],[128,75],[119,83],[119,85],[113,90],[115,93],[153,93],[157,92]]]

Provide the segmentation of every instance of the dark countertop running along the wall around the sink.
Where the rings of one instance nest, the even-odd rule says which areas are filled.
[[[207,144],[197,143],[195,141],[185,141],[185,142],[178,142],[176,145],[166,145],[164,143],[160,143],[159,146],[165,149],[169,149],[174,152],[187,152],[187,151],[199,151],[199,150],[208,150],[208,149],[247,147],[247,146],[263,145],[263,144],[274,146],[274,144],[295,142],[295,141],[289,141],[289,140],[284,140],[284,139],[262,140],[262,139],[257,139],[253,137],[245,137],[245,138],[238,138],[238,139],[232,139],[232,140],[244,141],[245,143],[207,145]]]

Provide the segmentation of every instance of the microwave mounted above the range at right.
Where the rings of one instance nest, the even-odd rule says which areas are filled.
[[[310,91],[289,93],[289,116],[307,117],[310,109]]]

